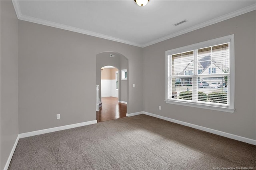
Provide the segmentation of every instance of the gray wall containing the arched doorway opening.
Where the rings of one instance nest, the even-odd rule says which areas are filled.
[[[21,20],[18,24],[20,133],[96,120],[96,55],[104,51],[129,60],[127,113],[142,111],[142,48]]]

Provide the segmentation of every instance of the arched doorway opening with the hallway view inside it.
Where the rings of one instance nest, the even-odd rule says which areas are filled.
[[[128,59],[124,55],[113,51],[96,55],[96,85],[102,102],[96,111],[97,122],[126,116],[128,80]]]

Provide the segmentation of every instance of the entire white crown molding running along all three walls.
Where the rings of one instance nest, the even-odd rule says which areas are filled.
[[[202,24],[198,24],[196,26],[192,26],[192,27],[187,28],[185,30],[181,30],[181,31],[176,32],[174,34],[170,34],[168,36],[164,36],[162,38],[158,38],[158,39],[153,40],[153,41],[148,42],[148,43],[138,44],[138,43],[135,43],[135,42],[130,42],[130,41],[127,41],[127,40],[122,40],[122,39],[115,38],[115,37],[112,37],[112,36],[106,36],[104,34],[99,34],[99,33],[96,33],[96,32],[91,32],[91,31],[88,31],[88,30],[83,30],[83,29],[80,29],[80,28],[72,27],[72,26],[66,26],[64,24],[58,24],[58,23],[55,23],[55,22],[50,22],[50,21],[41,20],[41,19],[38,19],[38,18],[30,17],[30,16],[25,16],[25,15],[22,15],[22,13],[21,13],[19,0],[12,0],[12,3],[13,3],[16,15],[17,15],[19,20],[33,22],[33,23],[36,23],[36,24],[42,24],[42,25],[45,25],[45,26],[51,26],[51,27],[54,27],[54,28],[60,28],[60,29],[63,29],[63,30],[77,32],[77,33],[81,33],[81,34],[86,34],[86,35],[89,35],[89,36],[103,38],[103,39],[106,39],[106,40],[112,40],[112,41],[115,41],[115,42],[125,43],[125,44],[128,44],[128,45],[134,45],[134,46],[142,47],[142,48],[143,47],[147,47],[149,45],[153,45],[155,43],[159,43],[159,42],[168,40],[170,38],[174,38],[176,36],[180,36],[182,34],[186,34],[188,32],[192,32],[194,30],[198,30],[200,28],[204,28],[206,26],[210,26],[212,24],[216,24],[216,23],[224,21],[224,20],[228,20],[230,18],[233,18],[233,17],[239,16],[239,15],[245,14],[247,12],[251,12],[253,10],[256,10],[256,4],[253,4],[251,6],[248,6],[248,7],[242,8],[240,10],[237,10],[237,11],[231,12],[229,14],[226,14],[224,16],[220,16],[218,18],[209,20],[209,21],[204,22]]]

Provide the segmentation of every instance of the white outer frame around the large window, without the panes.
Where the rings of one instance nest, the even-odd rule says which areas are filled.
[[[224,106],[219,106],[219,105],[211,105],[211,104],[204,104],[204,103],[190,103],[187,101],[177,101],[174,99],[169,99],[168,100],[168,56],[169,55],[174,55],[177,53],[184,53],[186,51],[192,51],[204,47],[210,47],[222,43],[229,43],[229,48],[230,48],[230,54],[229,54],[229,60],[230,60],[230,105],[229,107],[224,107]],[[235,107],[235,37],[234,34],[229,35],[229,36],[224,36],[221,38],[216,38],[213,40],[208,40],[205,42],[200,42],[200,43],[195,43],[192,45],[176,48],[176,49],[171,49],[168,51],[165,51],[165,56],[166,56],[166,76],[165,76],[165,101],[166,103],[169,104],[175,104],[175,105],[182,105],[182,106],[189,106],[189,107],[197,107],[197,108],[203,108],[203,109],[210,109],[210,110],[215,110],[215,111],[223,111],[223,112],[229,112],[229,113],[234,113]],[[197,80],[196,82],[197,83]]]

